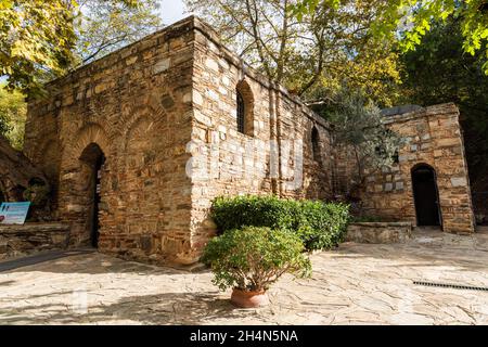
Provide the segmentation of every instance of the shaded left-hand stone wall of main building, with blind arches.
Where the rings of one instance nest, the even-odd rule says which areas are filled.
[[[26,153],[59,191],[72,244],[90,239],[97,144],[106,157],[99,248],[146,260],[190,248],[193,40],[193,21],[183,21],[51,82],[49,99],[29,103]]]

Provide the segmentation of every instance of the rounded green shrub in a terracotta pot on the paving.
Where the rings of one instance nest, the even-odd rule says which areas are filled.
[[[300,239],[269,228],[230,230],[207,244],[202,261],[214,272],[213,283],[233,288],[231,301],[244,308],[269,303],[267,291],[284,273],[309,277],[311,265]]]

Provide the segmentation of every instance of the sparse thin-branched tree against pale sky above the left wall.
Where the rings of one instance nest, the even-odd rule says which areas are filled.
[[[125,3],[85,0],[75,22],[76,65],[87,64],[163,27],[157,0],[139,0],[138,7]]]

